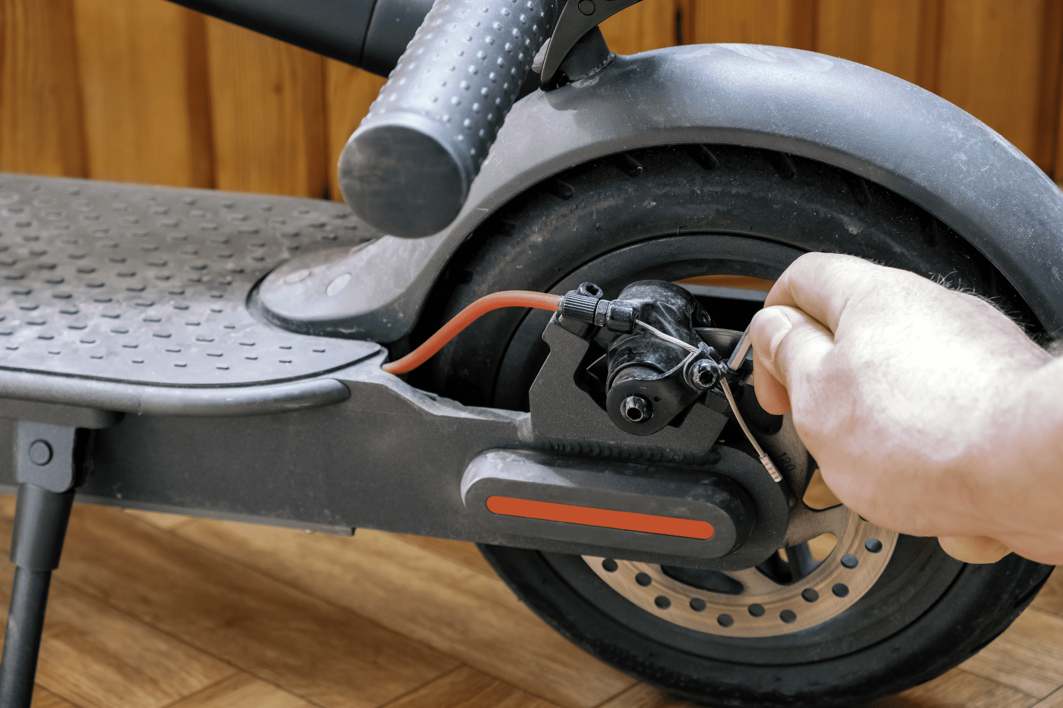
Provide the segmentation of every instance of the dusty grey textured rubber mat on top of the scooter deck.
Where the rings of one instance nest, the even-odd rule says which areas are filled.
[[[0,368],[163,385],[327,372],[374,343],[256,318],[294,253],[357,245],[341,204],[0,175]]]

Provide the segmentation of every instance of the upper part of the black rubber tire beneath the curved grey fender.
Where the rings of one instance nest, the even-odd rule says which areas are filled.
[[[411,339],[427,338],[466,305],[499,290],[561,293],[566,276],[623,246],[719,234],[786,245],[795,256],[848,253],[943,278],[994,298],[1024,324],[1035,323],[1007,279],[966,241],[878,185],[781,153],[724,145],[711,146],[710,157],[692,152],[682,146],[636,151],[627,159],[637,169],[628,161],[604,159],[529,189],[459,249]],[[732,260],[729,266],[737,275],[770,279],[781,273],[763,260]],[[686,277],[676,269],[641,273],[646,278]],[[630,273],[596,277],[614,280],[598,282],[607,297],[618,294],[625,277],[627,282],[640,279]],[[535,351],[523,358],[526,365],[520,372],[507,370],[510,380],[499,385],[506,368],[502,358],[526,314],[510,308],[480,317],[433,359],[431,381],[420,378],[417,383],[470,404],[527,410],[521,395],[545,357],[539,333],[549,315],[533,314],[542,324],[519,339],[516,348]]]

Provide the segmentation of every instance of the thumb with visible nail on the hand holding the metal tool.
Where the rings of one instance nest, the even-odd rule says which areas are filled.
[[[823,324],[783,305],[758,312],[749,326],[749,339],[757,399],[765,411],[776,414],[790,410],[795,388],[834,346],[833,334]]]

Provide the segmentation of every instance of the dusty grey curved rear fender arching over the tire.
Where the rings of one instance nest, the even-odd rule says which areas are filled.
[[[588,79],[536,91],[507,117],[450,227],[424,239],[384,236],[340,258],[325,252],[290,261],[266,279],[261,303],[297,330],[398,340],[461,242],[514,196],[588,160],[694,142],[799,155],[893,190],[980,251],[1049,332],[1063,330],[1063,193],[1029,158],[896,76],[753,45],[618,56]],[[309,277],[285,283],[303,269]],[[330,292],[344,273],[356,277]]]

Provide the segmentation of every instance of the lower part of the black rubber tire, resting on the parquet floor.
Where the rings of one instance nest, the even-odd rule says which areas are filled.
[[[533,611],[587,653],[679,698],[728,708],[853,708],[928,681],[1003,632],[1051,572],[1016,555],[964,566],[929,610],[887,639],[831,659],[773,666],[710,659],[649,639],[575,591],[545,554],[480,551]]]

